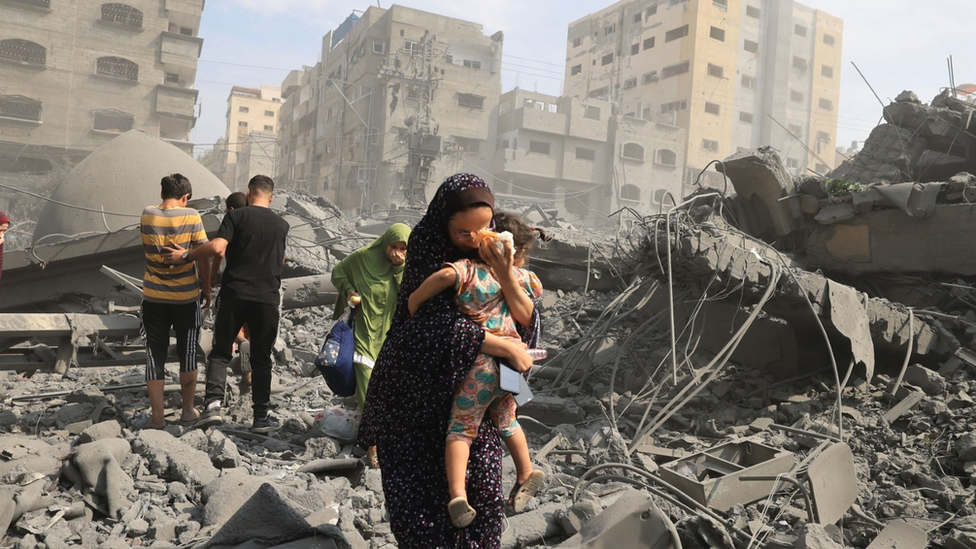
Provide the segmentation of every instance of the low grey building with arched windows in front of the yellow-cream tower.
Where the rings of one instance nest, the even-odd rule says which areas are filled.
[[[554,203],[585,225],[630,207],[657,213],[681,194],[685,130],[612,114],[602,99],[514,89],[498,106],[496,194]],[[670,203],[670,202],[669,202]]]

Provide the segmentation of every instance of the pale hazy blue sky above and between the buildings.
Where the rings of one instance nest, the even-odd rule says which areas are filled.
[[[382,7],[390,3],[380,0]],[[569,23],[610,5],[600,0],[406,0],[401,5],[474,21],[486,35],[505,33],[502,90],[562,92]],[[864,140],[881,105],[854,70],[864,72],[886,103],[902,90],[929,102],[948,86],[951,55],[956,84],[976,82],[976,49],[968,28],[973,0],[809,0],[807,5],[844,20],[838,140]],[[203,54],[197,72],[201,117],[197,150],[224,135],[232,85],[280,86],[291,69],[314,65],[322,35],[368,2],[351,0],[210,0],[203,12]],[[239,66],[240,65],[240,66]]]

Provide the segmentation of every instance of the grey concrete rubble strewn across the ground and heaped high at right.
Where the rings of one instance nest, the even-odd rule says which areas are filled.
[[[629,230],[553,227],[533,259],[552,358],[520,409],[549,480],[503,547],[976,548],[972,113],[905,93],[827,177],[744,151]],[[139,431],[139,368],[57,370],[18,336],[8,353],[62,375],[0,374],[5,543],[395,543],[380,472],[328,425],[342,399],[303,377],[331,312],[306,303],[282,321],[274,437],[235,427],[243,387],[222,431]],[[78,347],[107,360],[110,329]]]

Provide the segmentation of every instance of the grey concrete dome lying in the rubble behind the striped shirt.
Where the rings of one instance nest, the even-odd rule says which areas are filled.
[[[117,231],[139,223],[143,208],[159,204],[159,180],[179,172],[190,180],[194,198],[226,197],[230,190],[184,151],[139,130],[126,132],[82,160],[54,191],[37,220],[33,242],[48,235]],[[114,214],[127,214],[125,216]],[[51,244],[63,237],[44,238]]]

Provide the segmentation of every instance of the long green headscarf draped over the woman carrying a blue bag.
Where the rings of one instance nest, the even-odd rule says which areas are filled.
[[[339,318],[345,310],[349,292],[359,294],[363,301],[356,307],[353,331],[356,352],[373,360],[376,360],[390,329],[403,278],[403,265],[393,266],[386,248],[390,244],[406,242],[408,238],[410,227],[394,223],[379,238],[349,254],[332,270],[332,284],[339,292],[334,318]]]

